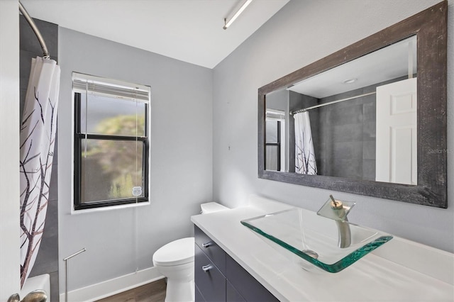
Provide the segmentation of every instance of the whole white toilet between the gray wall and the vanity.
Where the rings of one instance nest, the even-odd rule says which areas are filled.
[[[210,202],[200,205],[208,214],[228,208]],[[194,237],[182,238],[164,245],[153,255],[153,265],[167,277],[165,302],[194,301]]]

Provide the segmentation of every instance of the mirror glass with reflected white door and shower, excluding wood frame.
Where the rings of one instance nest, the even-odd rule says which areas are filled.
[[[417,184],[416,35],[266,94],[265,169]]]

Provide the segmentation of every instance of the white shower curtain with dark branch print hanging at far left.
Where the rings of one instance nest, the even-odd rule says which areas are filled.
[[[60,67],[32,59],[21,121],[21,287],[30,274],[43,236],[57,130]]]

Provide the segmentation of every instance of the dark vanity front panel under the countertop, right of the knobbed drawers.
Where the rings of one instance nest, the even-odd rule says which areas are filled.
[[[268,302],[276,301],[277,298],[262,286],[253,276],[251,276],[243,267],[238,264],[232,257],[227,255],[227,274],[228,281],[238,291],[245,301],[250,302]]]

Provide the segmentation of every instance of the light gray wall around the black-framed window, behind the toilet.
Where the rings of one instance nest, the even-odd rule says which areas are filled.
[[[212,70],[67,28],[59,51],[60,272],[87,248],[70,260],[71,291],[153,267],[159,247],[192,235],[212,198]],[[71,215],[73,71],[151,86],[150,205]]]

